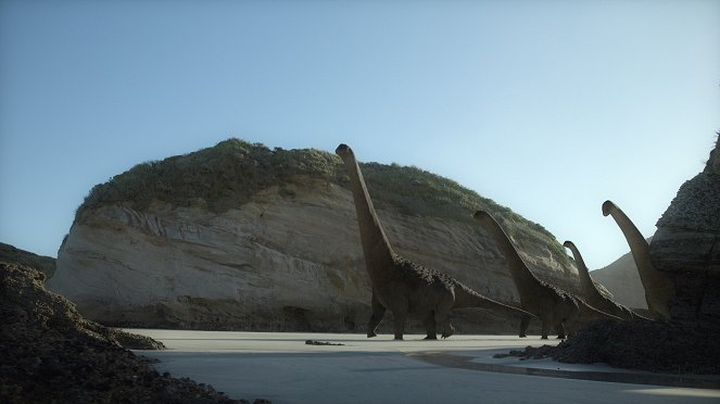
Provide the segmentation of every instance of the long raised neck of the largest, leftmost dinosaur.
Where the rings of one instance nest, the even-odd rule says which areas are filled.
[[[380,226],[380,220],[378,220],[378,215],[372,206],[370,194],[367,192],[365,179],[363,179],[363,173],[361,173],[357,161],[350,156],[344,160],[344,163],[350,176],[353,200],[355,201],[365,265],[370,276],[382,275],[378,274],[378,270],[392,263],[394,251],[382,230],[382,226]]]

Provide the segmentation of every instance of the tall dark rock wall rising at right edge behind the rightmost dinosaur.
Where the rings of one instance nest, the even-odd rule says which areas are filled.
[[[673,278],[673,318],[720,328],[720,138],[657,223],[653,264]]]

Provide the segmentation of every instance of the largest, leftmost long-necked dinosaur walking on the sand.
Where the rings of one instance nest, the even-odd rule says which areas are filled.
[[[408,317],[422,321],[426,339],[437,339],[437,328],[442,330],[442,338],[452,336],[454,328],[450,324],[450,312],[456,307],[484,307],[530,315],[488,299],[445,274],[396,254],[380,226],[352,149],[340,144],[336,153],[345,163],[350,176],[365,267],[372,286],[372,314],[367,325],[368,338],[376,336],[375,330],[386,310],[393,314],[396,340],[403,339]]]

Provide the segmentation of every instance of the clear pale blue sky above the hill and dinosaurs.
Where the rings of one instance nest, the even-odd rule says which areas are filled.
[[[353,147],[573,240],[645,236],[720,129],[720,1],[0,1],[0,241],[56,256],[90,188],[229,137]]]

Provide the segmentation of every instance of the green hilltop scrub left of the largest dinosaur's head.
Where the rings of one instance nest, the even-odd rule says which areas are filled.
[[[313,149],[270,150],[228,139],[193,153],[138,164],[94,186],[78,215],[108,203],[142,210],[153,200],[177,206],[206,205],[219,213],[296,174],[331,178],[336,163],[333,155]]]

